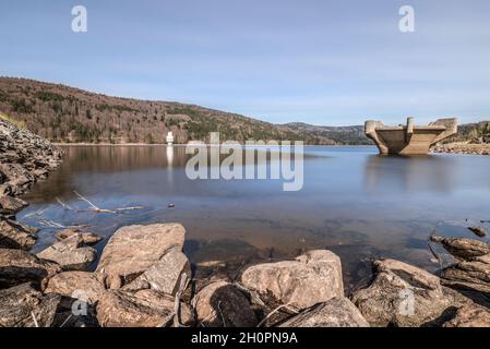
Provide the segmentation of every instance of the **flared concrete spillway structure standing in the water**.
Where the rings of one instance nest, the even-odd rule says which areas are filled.
[[[428,125],[416,125],[414,118],[406,125],[385,127],[380,121],[366,121],[364,133],[374,141],[381,154],[428,154],[435,143],[457,132],[457,119],[439,119]]]

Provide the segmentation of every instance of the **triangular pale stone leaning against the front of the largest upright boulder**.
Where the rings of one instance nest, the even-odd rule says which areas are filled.
[[[179,248],[170,249],[158,262],[146,269],[134,281],[123,287],[124,290],[153,289],[167,294],[176,296],[182,276],[192,277],[191,265],[188,257]]]

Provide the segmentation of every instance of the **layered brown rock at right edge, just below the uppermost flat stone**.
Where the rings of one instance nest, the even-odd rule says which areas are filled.
[[[441,277],[446,286],[490,294],[490,254],[452,265]]]

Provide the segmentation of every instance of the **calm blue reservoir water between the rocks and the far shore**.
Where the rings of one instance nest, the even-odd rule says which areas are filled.
[[[471,237],[465,225],[490,219],[485,156],[380,157],[373,147],[307,147],[303,189],[284,192],[278,180],[191,181],[182,147],[65,151],[63,165],[25,196],[31,206],[19,216],[41,228],[36,250],[55,241],[57,229],[47,221],[91,224],[89,230],[106,237],[126,225],[178,221],[187,229],[184,252],[199,277],[326,248],[342,257],[351,288],[366,281],[368,262],[377,256],[434,269],[427,248],[434,228]],[[103,208],[144,208],[77,212],[88,205],[73,191]]]

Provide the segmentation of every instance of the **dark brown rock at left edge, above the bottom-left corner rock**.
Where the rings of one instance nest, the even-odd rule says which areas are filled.
[[[0,249],[0,288],[24,282],[43,287],[48,277],[60,272],[58,264],[41,261],[26,251]]]

